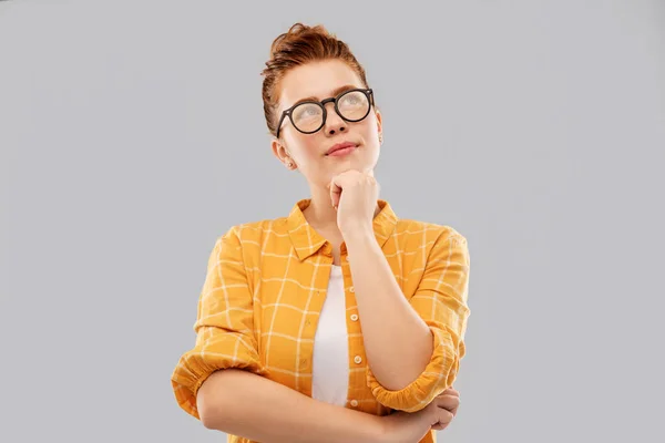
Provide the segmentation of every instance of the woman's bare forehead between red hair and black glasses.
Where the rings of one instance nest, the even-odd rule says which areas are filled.
[[[329,97],[337,87],[347,84],[365,87],[358,74],[340,60],[303,64],[287,72],[282,80],[280,109],[289,107],[304,97]]]

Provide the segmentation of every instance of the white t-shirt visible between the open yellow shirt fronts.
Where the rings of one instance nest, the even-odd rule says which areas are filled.
[[[332,265],[326,301],[314,338],[311,396],[346,405],[349,389],[349,347],[341,267]]]

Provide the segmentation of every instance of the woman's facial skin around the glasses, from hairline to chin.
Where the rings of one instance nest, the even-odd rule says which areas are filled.
[[[282,81],[277,119],[284,110],[303,99],[323,101],[336,96],[344,86],[348,87],[341,91],[366,87],[356,72],[342,61],[310,62],[295,68]],[[358,101],[351,99],[347,105],[354,103]],[[273,152],[277,158],[285,165],[294,163],[293,168],[298,168],[310,186],[326,186],[335,175],[348,169],[374,174],[379,158],[381,114],[371,106],[364,120],[347,122],[335,112],[334,103],[326,103],[326,111],[324,126],[313,134],[300,133],[288,116],[284,119],[279,140],[273,141]],[[352,143],[355,147],[328,154],[332,146],[345,142]]]

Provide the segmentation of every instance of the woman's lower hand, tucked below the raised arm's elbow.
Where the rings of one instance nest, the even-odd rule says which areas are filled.
[[[418,443],[430,430],[444,430],[457,415],[460,394],[449,388],[418,412],[393,412],[385,415],[383,440],[386,443]]]

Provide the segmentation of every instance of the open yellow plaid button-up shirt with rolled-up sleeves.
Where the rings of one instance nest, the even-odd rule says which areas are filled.
[[[194,323],[196,341],[178,360],[172,387],[180,406],[200,419],[196,392],[213,371],[242,368],[311,396],[317,319],[332,264],[331,245],[306,222],[309,199],[287,217],[231,227],[216,239]],[[380,199],[376,239],[405,297],[433,332],[430,363],[410,385],[390,391],[366,364],[361,319],[342,245],[347,306],[347,408],[386,415],[415,412],[452,385],[466,353],[469,249],[450,226],[398,219]],[[357,358],[359,357],[359,358]],[[229,442],[252,443],[229,435]],[[421,443],[436,442],[432,431]]]

